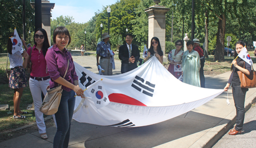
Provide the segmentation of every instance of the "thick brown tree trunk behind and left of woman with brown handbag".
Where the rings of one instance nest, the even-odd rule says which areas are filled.
[[[218,26],[214,61],[224,61],[225,27],[226,27],[226,18],[224,14],[221,14],[219,16],[219,26]]]

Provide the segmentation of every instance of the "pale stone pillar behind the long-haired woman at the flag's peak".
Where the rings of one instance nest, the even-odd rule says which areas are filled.
[[[148,13],[148,48],[151,46],[151,39],[157,37],[163,50],[163,62],[167,62],[165,56],[165,14],[169,10],[170,8],[159,5],[145,9],[145,12]]]

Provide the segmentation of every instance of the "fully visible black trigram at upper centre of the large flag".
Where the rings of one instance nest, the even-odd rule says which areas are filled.
[[[141,92],[141,90],[143,89],[142,93],[150,97],[153,97],[155,86],[155,84],[145,81],[143,78],[139,76],[136,76],[132,83],[132,87],[134,87],[137,91]]]

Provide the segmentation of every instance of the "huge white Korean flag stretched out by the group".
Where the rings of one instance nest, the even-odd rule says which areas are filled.
[[[103,79],[110,103],[97,108],[89,99],[76,97],[73,119],[112,127],[140,127],[160,123],[199,107],[223,92],[181,82],[155,56],[140,67],[120,75],[97,75],[75,63],[83,89]],[[171,94],[171,95],[170,95]]]

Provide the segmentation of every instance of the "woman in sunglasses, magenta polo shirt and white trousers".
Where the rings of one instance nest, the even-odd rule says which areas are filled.
[[[39,134],[42,139],[47,139],[44,114],[39,110],[42,104],[41,92],[46,95],[46,88],[49,85],[50,76],[46,66],[46,52],[50,47],[45,29],[38,28],[34,34],[33,47],[29,47],[28,54],[32,63],[29,78],[29,88],[35,105],[35,118]],[[30,62],[28,61],[28,62]],[[53,115],[55,121],[55,116]]]

